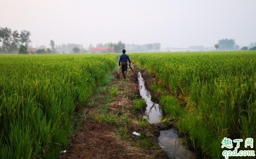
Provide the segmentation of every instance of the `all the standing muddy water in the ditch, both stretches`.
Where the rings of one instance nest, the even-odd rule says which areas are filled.
[[[158,103],[154,103],[151,100],[150,92],[147,90],[145,81],[141,76],[141,72],[138,72],[138,87],[139,93],[146,101],[147,107],[143,118],[148,119],[150,124],[159,123],[162,118],[162,110]],[[181,138],[178,136],[178,132],[174,129],[160,131],[158,137],[159,145],[165,150],[169,158],[172,159],[194,159],[196,155],[193,151],[188,150],[187,146],[182,144]]]

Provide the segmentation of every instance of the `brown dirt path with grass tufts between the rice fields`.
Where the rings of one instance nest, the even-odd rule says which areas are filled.
[[[60,158],[167,158],[158,146],[156,125],[140,119],[143,111],[133,109],[137,98],[136,74],[129,71],[126,79],[114,78],[106,91],[96,93],[81,130]]]

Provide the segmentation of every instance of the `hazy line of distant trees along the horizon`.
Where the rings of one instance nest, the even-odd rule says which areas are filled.
[[[62,44],[55,45],[54,40],[50,40],[50,47],[39,46],[36,50],[28,49],[30,44],[31,33],[28,30],[21,30],[19,33],[18,30],[11,30],[7,27],[0,27],[0,53],[19,53],[19,54],[28,54],[28,53],[37,53],[37,54],[50,54],[50,53],[88,53],[92,52],[92,44],[88,49],[84,48],[82,44]],[[2,45],[1,45],[2,44]],[[117,43],[108,42],[108,43],[98,43],[96,47],[108,47],[108,50],[102,51],[102,53],[120,53],[123,49],[126,49],[127,52],[154,52],[160,51],[160,43],[150,43],[150,44],[125,44],[121,40]],[[112,47],[114,49],[112,50]],[[236,45],[234,39],[220,39],[218,43],[214,45],[216,50],[219,51],[232,51],[239,50],[239,46]],[[256,50],[256,42],[251,42],[250,45],[242,47],[240,50]]]

